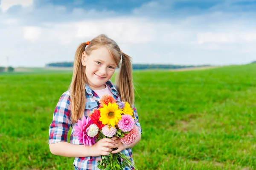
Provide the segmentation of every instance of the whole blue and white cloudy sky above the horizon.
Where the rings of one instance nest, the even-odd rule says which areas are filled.
[[[133,63],[246,64],[256,0],[0,0],[0,66],[73,61],[99,34]]]

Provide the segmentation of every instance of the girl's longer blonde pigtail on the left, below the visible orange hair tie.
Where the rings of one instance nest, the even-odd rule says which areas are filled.
[[[86,102],[84,89],[87,80],[85,75],[85,67],[81,63],[81,57],[86,46],[86,43],[81,43],[75,54],[73,77],[69,87],[71,94],[70,98],[72,123],[76,123],[77,120],[84,114]]]

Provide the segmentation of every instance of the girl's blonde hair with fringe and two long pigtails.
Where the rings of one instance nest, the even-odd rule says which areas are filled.
[[[82,54],[85,52],[90,55],[93,50],[98,49],[100,46],[105,46],[108,49],[118,68],[122,55],[121,67],[116,78],[116,87],[121,101],[127,101],[131,106],[134,104],[131,57],[121,52],[116,42],[106,35],[98,35],[86,46],[86,43],[81,43],[75,54],[73,77],[69,87],[72,123],[77,122],[83,116],[86,103],[85,84],[87,79],[85,66],[81,63]]]

